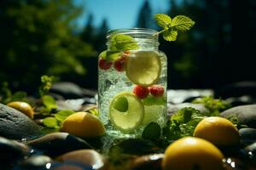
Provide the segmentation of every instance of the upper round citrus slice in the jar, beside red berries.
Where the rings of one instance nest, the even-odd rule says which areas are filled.
[[[126,76],[134,84],[148,87],[158,82],[161,71],[160,57],[154,51],[138,51],[126,60]]]

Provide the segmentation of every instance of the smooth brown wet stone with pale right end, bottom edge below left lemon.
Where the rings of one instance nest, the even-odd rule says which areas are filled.
[[[108,161],[96,150],[75,150],[56,158],[61,162],[79,163],[91,169],[108,169]]]

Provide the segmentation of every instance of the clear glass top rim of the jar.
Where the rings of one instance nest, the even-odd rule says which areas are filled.
[[[107,37],[109,37],[111,34],[151,34],[156,35],[158,31],[149,29],[149,28],[119,28],[119,29],[113,29],[109,30],[107,32]]]

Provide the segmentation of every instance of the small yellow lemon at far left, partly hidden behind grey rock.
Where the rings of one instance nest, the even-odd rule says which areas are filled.
[[[22,113],[24,113],[26,116],[30,117],[30,118],[34,118],[34,111],[32,109],[32,106],[29,105],[26,102],[22,102],[22,101],[13,101],[10,102],[9,104],[7,104],[9,107],[15,108],[15,110],[18,110]]]

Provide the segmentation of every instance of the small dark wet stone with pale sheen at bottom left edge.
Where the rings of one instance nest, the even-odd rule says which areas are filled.
[[[21,161],[17,168],[19,169],[32,169],[44,170],[48,169],[51,165],[51,158],[49,156],[30,156],[24,161]]]

